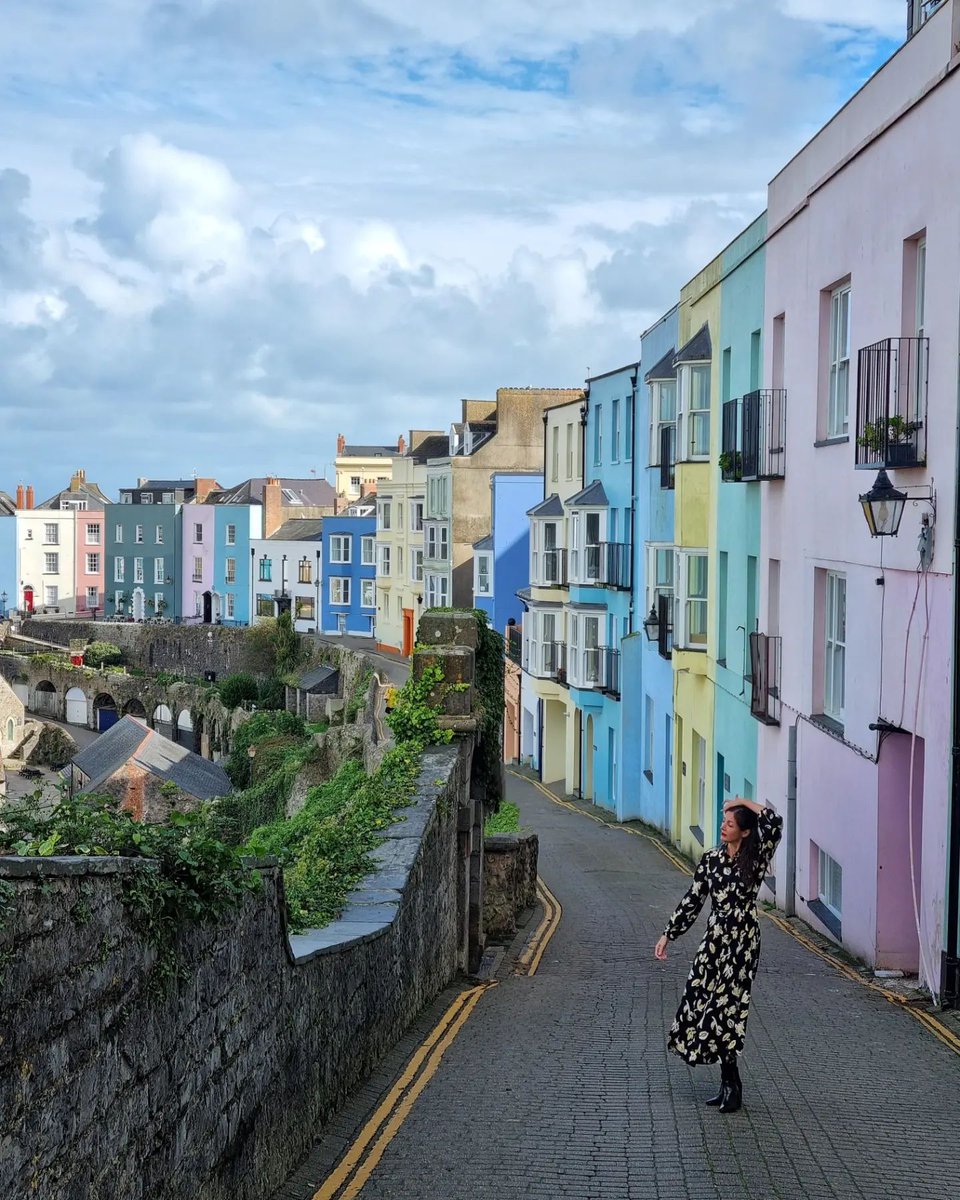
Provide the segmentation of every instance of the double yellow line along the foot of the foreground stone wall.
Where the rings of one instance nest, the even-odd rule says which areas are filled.
[[[446,1009],[424,1044],[407,1063],[400,1079],[378,1105],[349,1151],[326,1177],[313,1200],[354,1200],[383,1158],[384,1151],[407,1120],[418,1097],[436,1075],[444,1054],[454,1044],[480,1002],[496,982],[478,984],[461,992]]]

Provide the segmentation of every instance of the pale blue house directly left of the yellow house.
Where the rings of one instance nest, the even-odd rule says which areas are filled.
[[[673,438],[678,314],[671,308],[641,337],[634,508],[634,631],[622,647],[624,810],[671,832],[673,812]],[[654,623],[650,617],[656,618]],[[662,619],[661,619],[662,618]],[[644,626],[646,623],[646,626]]]

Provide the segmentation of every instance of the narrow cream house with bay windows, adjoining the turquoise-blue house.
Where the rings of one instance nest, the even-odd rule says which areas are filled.
[[[521,593],[521,760],[533,763],[542,748],[541,778],[572,792],[580,775],[576,704],[566,686],[565,604],[569,600],[568,509],[583,486],[582,395],[547,409],[544,422],[544,499],[530,518],[530,587]]]

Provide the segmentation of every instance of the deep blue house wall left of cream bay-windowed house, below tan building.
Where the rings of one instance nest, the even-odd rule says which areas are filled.
[[[517,592],[529,583],[527,510],[542,494],[542,475],[493,472],[490,476],[491,532],[473,545],[473,602],[500,634],[510,619],[520,623],[523,614]]]

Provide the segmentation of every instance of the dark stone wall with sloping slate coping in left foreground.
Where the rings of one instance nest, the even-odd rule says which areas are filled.
[[[184,934],[166,998],[122,905],[140,864],[0,858],[0,1195],[270,1195],[462,960],[469,758],[425,756],[338,922],[288,940],[266,865],[233,919]]]

